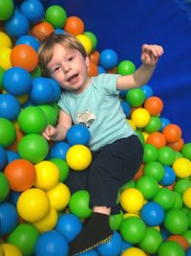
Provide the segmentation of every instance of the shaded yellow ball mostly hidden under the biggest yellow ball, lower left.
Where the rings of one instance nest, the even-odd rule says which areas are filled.
[[[39,233],[44,233],[46,231],[52,230],[54,226],[57,223],[58,215],[53,206],[51,206],[51,209],[49,213],[40,221],[32,222],[32,225],[34,225]]]

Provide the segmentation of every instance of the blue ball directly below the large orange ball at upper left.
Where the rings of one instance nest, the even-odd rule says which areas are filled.
[[[22,67],[11,67],[3,76],[3,85],[14,96],[29,93],[32,89],[30,73]]]

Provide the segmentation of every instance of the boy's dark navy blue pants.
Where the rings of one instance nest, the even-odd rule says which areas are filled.
[[[137,135],[122,138],[99,151],[92,151],[91,165],[84,171],[70,170],[66,184],[73,194],[77,190],[90,193],[90,206],[111,207],[118,214],[118,189],[138,172],[142,161],[142,145]]]

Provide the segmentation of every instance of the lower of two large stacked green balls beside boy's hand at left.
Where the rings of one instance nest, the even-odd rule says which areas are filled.
[[[47,140],[40,134],[27,134],[18,143],[18,153],[21,158],[33,164],[45,159],[49,151]]]

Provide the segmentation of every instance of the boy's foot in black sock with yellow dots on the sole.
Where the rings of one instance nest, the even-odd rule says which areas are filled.
[[[69,255],[77,255],[100,244],[105,244],[112,239],[113,233],[109,224],[109,216],[94,212],[84,229],[70,244]]]

